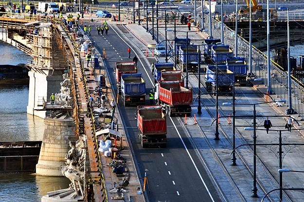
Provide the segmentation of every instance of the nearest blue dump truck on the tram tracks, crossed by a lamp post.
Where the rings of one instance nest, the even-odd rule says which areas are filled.
[[[209,93],[216,95],[216,82],[218,82],[219,93],[232,93],[232,87],[234,82],[234,74],[227,73],[226,65],[218,65],[218,81],[216,81],[216,66],[208,65],[205,74],[206,89]]]

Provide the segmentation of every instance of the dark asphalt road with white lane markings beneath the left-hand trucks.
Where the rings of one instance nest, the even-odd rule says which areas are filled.
[[[128,34],[125,28],[109,25],[106,35],[97,34],[97,26],[101,23],[90,23],[91,36],[96,42],[96,48],[101,52],[105,49],[107,59],[106,68],[109,79],[117,92],[115,62],[132,61],[136,53],[139,58],[138,73],[142,73],[146,82],[146,104],[149,104],[148,94],[154,84],[147,60],[139,47],[134,43],[137,39],[122,34]],[[89,24],[87,24],[88,26]],[[114,30],[113,30],[114,28]],[[121,32],[121,31],[122,32]],[[137,42],[138,43],[138,42]],[[131,58],[128,58],[128,47],[131,47]],[[135,53],[134,53],[135,52]],[[117,96],[117,94],[115,95]],[[193,149],[186,135],[183,123],[179,118],[167,117],[167,148],[143,149],[138,138],[137,120],[134,113],[137,107],[124,107],[123,102],[118,104],[123,118],[127,137],[133,148],[138,174],[143,184],[144,174],[147,174],[149,189],[146,187],[146,198],[150,202],[220,202],[204,166]],[[150,192],[149,192],[150,191]]]

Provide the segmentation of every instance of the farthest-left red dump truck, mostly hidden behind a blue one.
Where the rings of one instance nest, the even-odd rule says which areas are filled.
[[[116,62],[116,85],[118,92],[121,92],[122,74],[136,74],[137,68],[135,62]]]

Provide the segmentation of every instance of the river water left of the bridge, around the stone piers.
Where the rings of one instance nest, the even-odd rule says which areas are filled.
[[[26,64],[26,54],[0,42],[0,64]],[[0,141],[42,140],[43,118],[26,113],[28,85],[0,85]],[[34,170],[33,170],[34,172]],[[44,177],[36,174],[0,173],[0,202],[39,202],[47,192],[68,188],[65,177]]]

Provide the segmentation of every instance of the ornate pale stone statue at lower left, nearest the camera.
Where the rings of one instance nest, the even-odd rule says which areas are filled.
[[[70,188],[74,189],[77,196],[79,196],[78,189],[80,189],[82,197],[84,197],[84,165],[85,165],[85,142],[77,140],[77,142],[70,141],[71,150],[66,153],[65,159],[67,166],[61,169],[63,176],[70,179]]]

